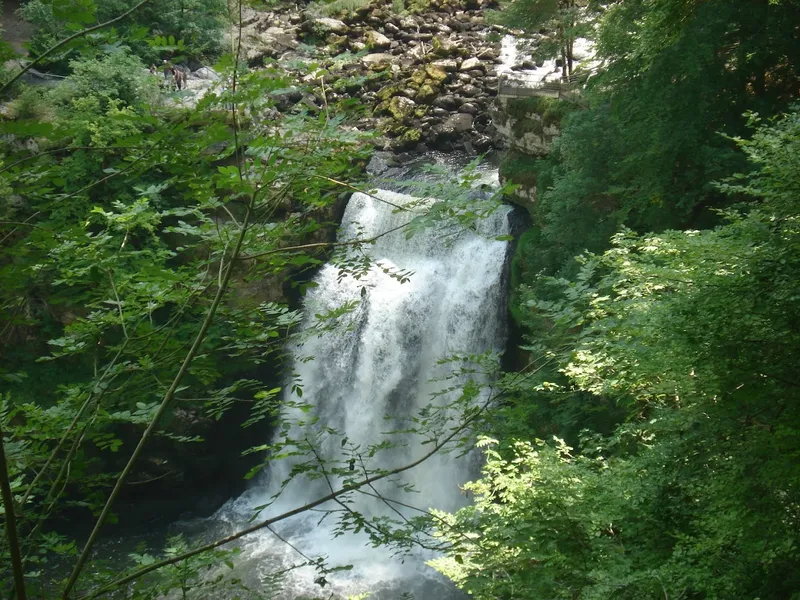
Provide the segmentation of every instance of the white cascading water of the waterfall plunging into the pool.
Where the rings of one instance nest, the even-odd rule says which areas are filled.
[[[370,238],[400,228],[414,213],[395,207],[412,202],[418,205],[419,199],[387,191],[378,192],[377,198],[354,194],[339,240]],[[454,368],[452,364],[439,364],[439,359],[454,353],[501,349],[507,243],[495,238],[508,233],[509,212],[505,207],[497,210],[478,223],[474,232],[436,226],[411,239],[401,229],[384,235],[365,249],[380,268],[371,268],[360,279],[341,277],[339,268],[333,265],[320,270],[315,278],[317,287],[305,299],[303,328],[307,332],[318,324],[315,315],[346,303],[357,306],[340,319],[338,329],[310,335],[293,349],[302,399],[287,395],[284,403],[304,402],[311,409],[287,409],[284,417],[295,423],[288,431],[290,437],[313,436],[320,457],[338,460],[340,468],[354,468],[350,460],[358,456],[356,475],[362,467],[392,469],[427,452],[430,446],[420,445],[422,438],[410,433],[388,436],[393,447],[373,456],[367,449],[387,439],[384,432],[407,427],[408,419],[431,404],[431,394],[445,385],[433,380],[447,376]],[[386,270],[412,271],[413,275],[401,283]],[[451,401],[454,393],[439,395],[433,402],[441,406]],[[325,430],[335,433],[320,434]],[[291,460],[273,462],[258,484],[224,507],[218,517],[241,525],[254,507],[270,502],[293,464]],[[474,475],[469,462],[465,457],[437,454],[404,472],[399,481],[376,484],[376,490],[423,509],[452,510],[464,501],[459,484]],[[341,478],[331,476],[334,487],[340,482]],[[398,484],[413,485],[416,493],[403,493]],[[311,481],[298,476],[259,518],[301,506],[329,491],[324,478]],[[357,497],[354,502],[354,507],[368,517],[389,511],[385,503],[369,496]],[[325,589],[314,582],[313,569],[293,571],[282,597],[328,598],[331,592],[334,597],[370,592],[370,598],[378,599],[400,598],[404,592],[414,594],[417,600],[456,597],[457,592],[424,565],[424,555],[402,564],[387,549],[366,546],[368,540],[363,534],[333,538],[335,519],[329,517],[319,523],[320,516],[319,512],[307,512],[276,525],[275,530],[294,548],[266,530],[247,538],[243,557],[253,579],[280,565],[302,562],[301,551],[312,557],[325,555],[332,565],[352,564],[353,569],[327,575]]]

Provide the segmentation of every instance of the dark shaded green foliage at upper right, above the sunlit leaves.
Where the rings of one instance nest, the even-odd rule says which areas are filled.
[[[605,66],[589,80],[585,109],[560,120],[541,165],[548,180],[538,185],[538,242],[523,277],[539,296],[552,288],[539,285],[538,273],[574,276],[573,257],[602,252],[621,226],[709,227],[736,201],[711,182],[748,169],[733,142],[749,135],[743,115],[780,114],[798,81],[787,63],[797,41],[786,26],[798,18],[796,3],[750,9],[635,1],[600,13],[594,37]]]

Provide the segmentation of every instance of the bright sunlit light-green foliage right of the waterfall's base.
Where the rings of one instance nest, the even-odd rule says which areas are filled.
[[[475,506],[440,515],[434,565],[476,598],[797,593],[800,116],[738,144],[755,170],[719,187],[751,200],[725,224],[625,231],[527,293],[557,372],[510,390]],[[577,415],[577,449],[515,440],[526,411]]]

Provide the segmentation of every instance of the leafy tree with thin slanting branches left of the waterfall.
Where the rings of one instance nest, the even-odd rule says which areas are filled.
[[[16,509],[6,511],[14,527],[4,528],[0,544],[0,590],[17,598],[26,588],[94,596],[163,570],[134,597],[185,593],[205,585],[199,581],[207,570],[230,557],[213,552],[220,546],[332,499],[348,507],[358,490],[463,444],[491,399],[476,404],[477,383],[468,381],[457,401],[431,408],[417,424],[430,450],[407,465],[348,470],[345,484],[332,484],[306,506],[204,546],[174,541],[162,556],[139,553],[126,573],[95,561],[97,536],[113,522],[126,482],[148,476],[142,459],[151,444],[202,443],[183,427],[182,414],[221,419],[244,403],[243,426],[273,418],[281,425],[280,390],[254,370],[265,361],[280,367],[299,314],[241,293],[249,281],[283,285],[345,246],[351,253],[335,257],[342,275],[359,276],[370,266],[364,250],[375,239],[337,245],[322,235],[335,227],[342,195],[359,189],[348,182],[364,163],[368,136],[350,127],[334,103],[320,115],[274,111],[276,96],[296,85],[291,75],[248,72],[229,56],[217,65],[218,87],[196,108],[182,109],[152,100],[153,81],[124,44],[107,53],[91,44],[76,49],[86,56],[43,97],[51,109],[45,117],[18,112],[0,123],[7,134],[0,165],[0,424],[7,464],[0,481],[13,495],[4,506]],[[325,75],[317,71],[308,80]],[[417,207],[409,235],[441,222],[474,226],[499,206],[497,197],[466,196],[470,181],[440,188],[431,192],[443,200]],[[479,357],[464,360],[470,377],[485,366],[475,364]],[[300,385],[295,394],[296,405],[307,408]],[[341,468],[318,456],[312,442],[286,443],[308,457],[297,476],[326,477]],[[96,516],[81,548],[51,529],[72,511]],[[346,515],[343,528],[367,528],[376,540],[409,545],[418,534],[416,524],[400,523],[411,527],[406,533],[352,509]],[[17,541],[12,529],[20,532]],[[19,561],[10,560],[16,554],[25,585],[12,592],[6,575],[19,575]],[[53,581],[54,560],[71,566],[66,582]],[[323,574],[328,568],[310,564]]]

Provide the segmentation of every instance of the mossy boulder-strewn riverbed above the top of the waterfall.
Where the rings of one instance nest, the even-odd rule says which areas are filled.
[[[485,152],[503,145],[490,117],[503,31],[485,21],[491,1],[444,0],[419,14],[372,3],[338,18],[248,9],[242,53],[252,67],[315,60],[326,70],[312,92],[284,95],[281,110],[358,99],[368,109],[359,127],[380,132],[384,150]]]

